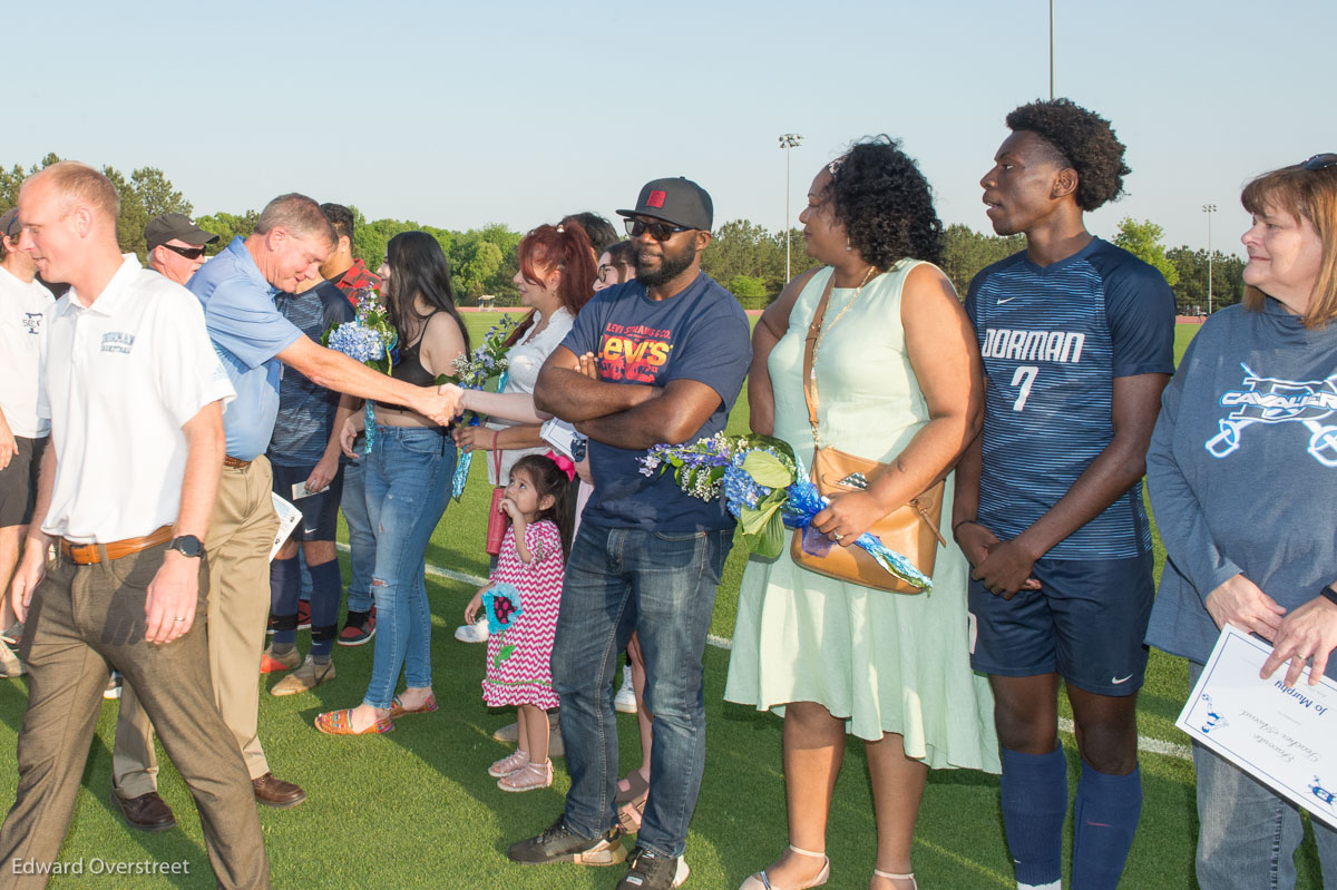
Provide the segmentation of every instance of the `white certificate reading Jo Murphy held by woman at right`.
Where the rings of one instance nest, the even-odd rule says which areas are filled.
[[[1226,625],[1175,726],[1278,795],[1337,827],[1337,684],[1258,679],[1271,647]]]

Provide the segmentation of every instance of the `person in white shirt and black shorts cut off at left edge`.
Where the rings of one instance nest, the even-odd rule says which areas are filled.
[[[9,588],[19,564],[51,429],[37,417],[37,338],[52,297],[36,274],[32,257],[19,250],[19,208],[7,210],[0,215],[0,589]],[[13,609],[0,599],[0,627],[9,628]],[[0,676],[23,671],[0,641]]]

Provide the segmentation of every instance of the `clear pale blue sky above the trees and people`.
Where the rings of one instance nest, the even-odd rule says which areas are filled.
[[[1337,151],[1337,3],[1056,0],[1058,94],[1115,126],[1170,246],[1238,247],[1241,184]],[[207,9],[207,12],[206,12]],[[987,231],[1003,116],[1048,96],[1047,0],[7,4],[0,163],[159,167],[197,214],[283,191],[449,229],[612,215],[687,175],[717,223],[785,223],[817,168],[888,132],[944,222]]]

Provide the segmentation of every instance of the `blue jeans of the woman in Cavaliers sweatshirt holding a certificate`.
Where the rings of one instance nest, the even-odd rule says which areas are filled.
[[[1189,663],[1189,688],[1202,665]],[[1300,810],[1209,748],[1194,743],[1198,771],[1198,885],[1202,890],[1290,890],[1296,849],[1304,839]],[[1337,887],[1337,831],[1310,819],[1325,887]]]

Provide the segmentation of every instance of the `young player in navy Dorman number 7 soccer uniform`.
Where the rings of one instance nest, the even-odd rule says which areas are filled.
[[[971,660],[996,699],[1017,886],[1060,886],[1062,676],[1082,755],[1072,883],[1114,887],[1142,810],[1136,692],[1152,600],[1142,474],[1174,370],[1174,297],[1083,223],[1130,172],[1108,122],[1058,99],[1015,110],[1007,126],[980,184],[993,230],[1024,233],[1027,249],[976,275],[965,303],[987,381],[952,516],[975,567]]]

